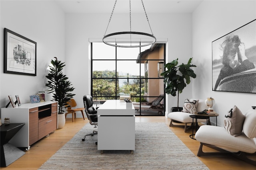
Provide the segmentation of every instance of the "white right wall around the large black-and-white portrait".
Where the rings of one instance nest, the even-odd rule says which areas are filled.
[[[255,18],[255,0],[207,0],[192,15],[193,57],[198,66],[195,69],[197,78],[193,82],[193,96],[202,99],[211,96],[215,99],[214,110],[220,114],[220,126],[224,125],[224,115],[234,105],[243,113],[256,106],[256,94],[212,91],[212,41]]]

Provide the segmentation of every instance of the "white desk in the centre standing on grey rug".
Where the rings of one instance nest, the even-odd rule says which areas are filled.
[[[107,100],[98,108],[98,150],[135,150],[135,109]]]

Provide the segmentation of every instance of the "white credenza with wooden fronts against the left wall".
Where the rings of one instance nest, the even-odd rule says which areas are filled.
[[[1,120],[25,125],[9,141],[16,147],[30,148],[36,141],[57,129],[58,102],[26,103],[16,107],[1,108]]]

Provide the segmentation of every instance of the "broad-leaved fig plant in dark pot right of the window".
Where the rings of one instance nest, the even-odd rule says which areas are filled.
[[[177,107],[172,107],[171,112],[182,110],[182,107],[179,107],[179,94],[182,93],[182,90],[186,87],[187,84],[190,84],[190,77],[196,78],[194,70],[190,68],[196,66],[190,64],[191,61],[192,58],[188,60],[188,64],[182,63],[178,65],[178,59],[176,59],[164,65],[164,68],[167,68],[167,70],[162,72],[161,76],[164,77],[164,83],[166,85],[164,90],[166,94],[176,96],[176,93],[178,92]],[[186,80],[186,82],[184,80]]]

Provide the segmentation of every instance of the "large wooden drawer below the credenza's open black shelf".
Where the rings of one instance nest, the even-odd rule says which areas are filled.
[[[38,140],[56,130],[57,116],[45,117],[38,123]]]

